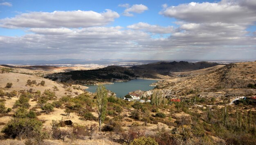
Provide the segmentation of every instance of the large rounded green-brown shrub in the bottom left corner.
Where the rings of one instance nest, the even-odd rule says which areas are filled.
[[[15,139],[18,137],[18,139],[22,139],[22,137],[31,138],[41,130],[41,121],[29,118],[14,118],[4,126],[1,132],[9,138]]]

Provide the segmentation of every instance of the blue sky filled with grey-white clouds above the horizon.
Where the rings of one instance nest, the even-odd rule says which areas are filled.
[[[0,60],[256,60],[256,0],[0,0]]]

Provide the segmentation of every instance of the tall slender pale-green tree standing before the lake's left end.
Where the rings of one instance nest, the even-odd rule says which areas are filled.
[[[99,85],[96,90],[96,104],[99,116],[99,131],[101,132],[101,124],[105,120],[107,107],[107,90],[103,85]]]

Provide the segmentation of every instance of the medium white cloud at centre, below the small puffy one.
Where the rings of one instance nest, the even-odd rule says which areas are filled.
[[[157,33],[157,34],[168,34],[173,32],[173,26],[162,27],[158,25],[150,25],[148,23],[139,22],[137,24],[132,24],[127,26],[127,28],[133,30],[144,30],[146,32]]]

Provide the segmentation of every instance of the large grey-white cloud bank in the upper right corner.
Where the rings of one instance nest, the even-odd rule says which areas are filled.
[[[254,24],[256,21],[255,0],[222,0],[219,3],[180,4],[166,7],[160,14],[193,23],[235,23]]]

